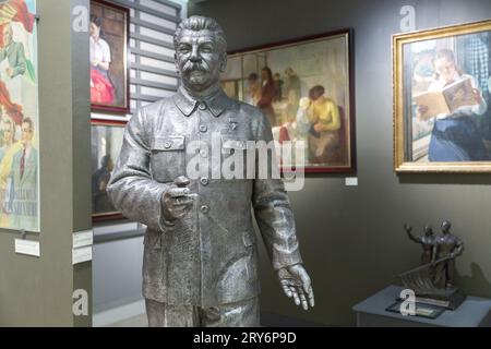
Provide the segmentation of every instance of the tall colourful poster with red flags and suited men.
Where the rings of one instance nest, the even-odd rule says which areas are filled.
[[[0,228],[39,231],[36,0],[0,0]]]

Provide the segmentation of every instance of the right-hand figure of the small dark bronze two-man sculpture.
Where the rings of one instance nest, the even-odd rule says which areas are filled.
[[[436,260],[448,260],[436,264],[435,285],[446,289],[454,287],[455,257],[464,252],[464,242],[451,233],[451,222],[445,220],[442,224],[442,234],[436,239]]]

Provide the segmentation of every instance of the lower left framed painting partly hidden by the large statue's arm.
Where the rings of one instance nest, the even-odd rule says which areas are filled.
[[[124,122],[92,121],[92,217],[93,220],[121,219],[106,188],[121,151]]]

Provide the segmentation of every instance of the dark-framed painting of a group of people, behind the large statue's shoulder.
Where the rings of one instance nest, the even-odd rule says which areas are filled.
[[[226,94],[259,107],[291,145],[282,170],[306,172],[355,171],[354,81],[351,29],[229,52],[221,75]]]

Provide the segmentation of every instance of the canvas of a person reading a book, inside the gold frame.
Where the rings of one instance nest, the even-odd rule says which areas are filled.
[[[491,160],[491,32],[407,44],[408,160]]]

